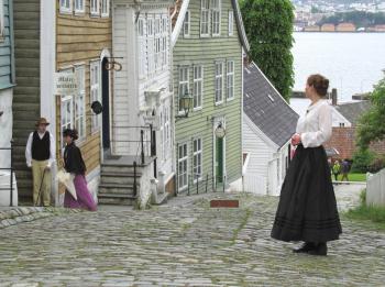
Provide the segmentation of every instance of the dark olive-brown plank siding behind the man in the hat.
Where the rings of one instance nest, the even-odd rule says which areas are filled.
[[[40,117],[40,0],[13,0],[15,81],[13,90],[13,163],[19,199],[32,196],[25,144]]]

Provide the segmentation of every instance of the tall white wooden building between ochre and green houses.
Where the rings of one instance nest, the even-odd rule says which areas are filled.
[[[112,5],[112,54],[121,70],[113,77],[111,153],[138,155],[138,143],[130,142],[140,141],[141,128],[135,126],[152,124],[156,176],[163,187],[174,176],[175,162],[170,4],[165,0],[114,0]],[[145,136],[150,141],[148,133]]]

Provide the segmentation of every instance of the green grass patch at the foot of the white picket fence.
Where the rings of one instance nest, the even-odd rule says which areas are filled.
[[[351,220],[370,221],[376,228],[385,230],[385,207],[366,206],[366,190],[361,194],[360,206],[350,209],[344,216]]]

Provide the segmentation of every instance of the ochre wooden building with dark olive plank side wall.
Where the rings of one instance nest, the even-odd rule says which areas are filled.
[[[79,131],[77,144],[84,152],[87,179],[91,189],[96,189],[102,147],[109,147],[109,134],[102,125],[109,124],[111,92],[111,73],[106,68],[112,46],[110,0],[16,0],[14,15],[19,85],[14,91],[13,131],[20,197],[29,199],[32,195],[24,148],[28,134],[40,117],[52,123],[50,131],[57,142],[57,158],[62,157],[64,147],[62,131],[65,128]],[[75,77],[76,91],[55,95],[58,73]],[[103,115],[92,114],[94,101],[106,103]]]

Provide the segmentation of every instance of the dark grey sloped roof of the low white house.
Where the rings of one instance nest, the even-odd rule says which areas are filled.
[[[243,85],[243,112],[282,147],[295,133],[298,114],[254,63],[244,67]]]

